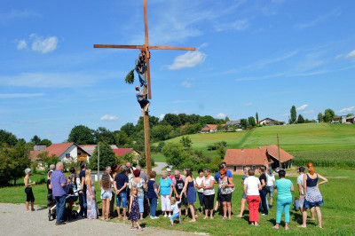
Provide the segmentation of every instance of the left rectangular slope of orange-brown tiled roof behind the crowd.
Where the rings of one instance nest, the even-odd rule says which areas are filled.
[[[227,165],[265,165],[268,163],[265,150],[254,149],[228,149],[225,153]]]

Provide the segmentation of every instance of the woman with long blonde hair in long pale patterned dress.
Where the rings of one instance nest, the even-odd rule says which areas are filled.
[[[94,183],[91,180],[91,170],[85,170],[85,185],[86,189],[86,201],[87,201],[87,217],[88,219],[97,219],[99,216],[99,208],[96,203],[96,192]]]

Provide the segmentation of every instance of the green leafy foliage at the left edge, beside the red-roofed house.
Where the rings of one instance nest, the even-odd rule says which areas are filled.
[[[31,146],[20,141],[15,146],[3,146],[0,149],[0,186],[25,176],[25,169],[31,164],[29,151]]]

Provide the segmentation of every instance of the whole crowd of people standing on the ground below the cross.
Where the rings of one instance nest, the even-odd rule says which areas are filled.
[[[321,228],[319,206],[323,205],[323,198],[319,192],[319,185],[327,183],[327,178],[317,174],[311,162],[308,163],[307,169],[308,173],[304,174],[305,168],[298,168],[300,175],[297,178],[296,189],[299,197],[296,197],[295,205],[301,210],[303,221],[299,227],[306,227],[307,209],[310,208],[312,219],[314,219],[314,211],[317,212],[318,227]],[[238,216],[243,217],[247,202],[248,220],[251,225],[259,226],[259,215],[269,214],[269,209],[272,208],[273,193],[277,193],[276,224],[273,228],[279,229],[281,216],[284,214],[285,229],[288,230],[289,212],[294,202],[293,183],[286,178],[285,169],[278,171],[278,180],[272,174],[272,169],[261,167],[257,171],[260,174],[259,177],[255,177],[256,170],[248,167],[244,169],[245,175],[241,178],[243,186],[241,211]],[[30,180],[31,170],[26,169],[25,172],[26,209],[30,211],[29,203],[31,203],[31,210],[35,210],[32,186],[36,183]],[[214,176],[209,168],[199,169],[196,178],[193,178],[192,169],[185,168],[183,172],[181,174],[179,170],[175,170],[172,175],[171,169],[162,170],[162,177],[157,180],[155,171],[148,176],[139,167],[133,168],[130,162],[126,165],[118,165],[113,170],[111,167],[106,167],[99,183],[99,197],[102,201],[101,219],[108,220],[110,216],[114,217],[115,200],[116,216],[122,220],[130,220],[132,229],[142,230],[139,221],[143,219],[145,213],[153,220],[159,218],[157,203],[161,201],[162,216],[169,217],[170,225],[174,225],[174,220],[181,223],[182,214],[191,216],[189,222],[195,222],[199,216],[194,205],[197,199],[201,207],[200,214],[204,215],[204,219],[213,219],[218,208],[224,220],[232,219],[232,194],[235,186],[232,172],[226,169],[225,162],[219,166],[219,171]],[[319,182],[319,179],[322,181]],[[70,177],[66,178],[63,174],[63,164],[59,162],[56,166],[51,166],[47,181],[48,206],[52,207],[56,204],[56,224],[65,224],[63,214],[66,206],[67,185],[71,185],[74,193],[77,192],[79,195],[79,217],[98,218],[99,208],[96,190],[91,180],[91,170],[86,169],[86,163],[82,162],[80,170],[75,172],[74,168],[70,169]],[[215,185],[217,185],[216,190]],[[75,203],[72,202],[71,206],[73,204]]]

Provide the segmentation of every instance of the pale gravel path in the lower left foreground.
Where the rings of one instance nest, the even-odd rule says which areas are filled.
[[[0,235],[188,235],[160,228],[130,230],[130,224],[81,219],[65,225],[48,221],[48,209],[26,212],[25,205],[0,203]]]

